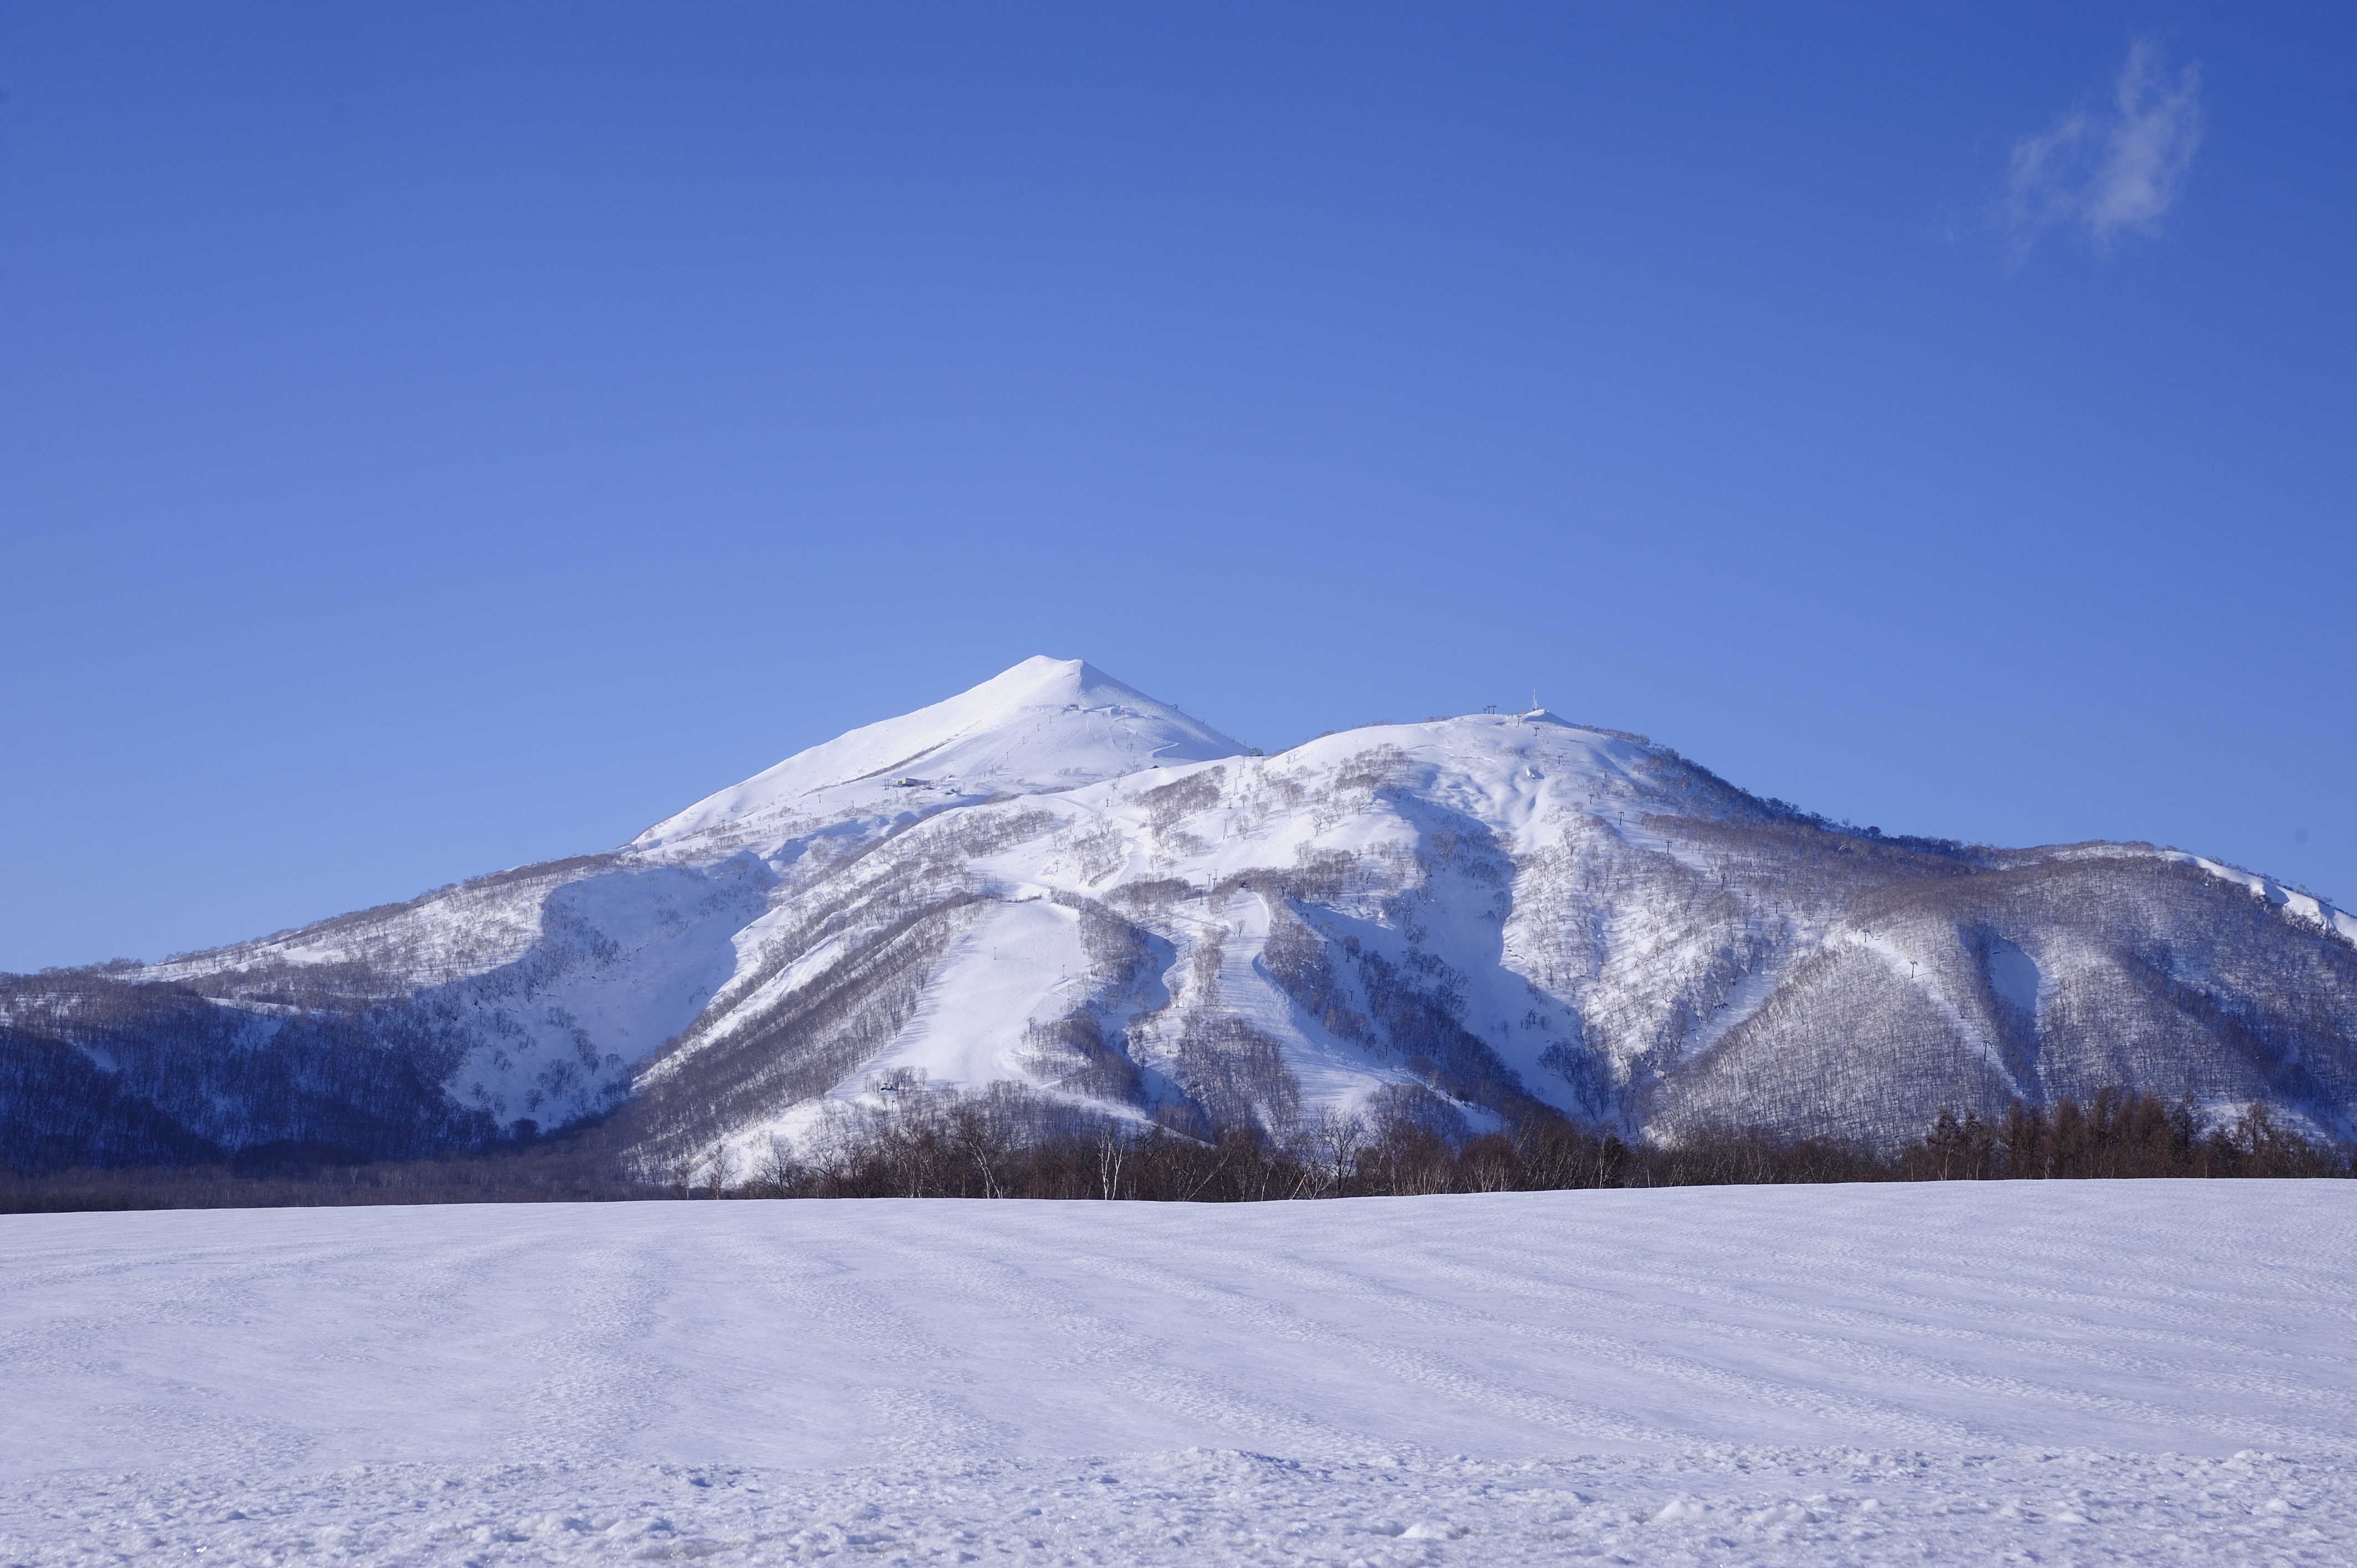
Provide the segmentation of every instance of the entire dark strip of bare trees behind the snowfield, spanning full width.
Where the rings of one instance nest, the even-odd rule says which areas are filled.
[[[363,1165],[299,1151],[189,1167],[0,1174],[0,1212],[302,1207],[379,1203],[580,1203],[653,1198],[1035,1198],[1273,1203],[1645,1186],[1822,1181],[2357,1177],[2357,1146],[2279,1122],[2265,1106],[2209,1118],[2190,1096],[2100,1089],[1999,1118],[1942,1111],[1921,1139],[1876,1151],[1831,1137],[1706,1125],[1673,1146],[1534,1113],[1473,1132],[1438,1094],[1395,1085],[1362,1113],[1299,1118],[1282,1137],[1237,1122],[1195,1137],[1103,1115],[1018,1085],[926,1089],[832,1113],[759,1160],[728,1146],[632,1174],[601,1127],[488,1153]]]

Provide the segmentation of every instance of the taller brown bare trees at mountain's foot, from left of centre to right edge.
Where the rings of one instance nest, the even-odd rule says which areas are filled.
[[[1301,1118],[1285,1137],[1235,1122],[1188,1137],[1094,1115],[1014,1085],[903,1096],[839,1118],[759,1170],[684,1165],[700,1198],[1096,1198],[1261,1203],[1791,1181],[1994,1181],[2091,1177],[2350,1177],[2357,1148],[2319,1144],[2265,1106],[2211,1120],[2190,1101],[2102,1089],[2006,1115],[1942,1113],[1916,1141],[1874,1151],[1761,1127],[1699,1127],[1676,1146],[1539,1113],[1468,1132],[1440,1096],[1398,1085],[1360,1115]]]

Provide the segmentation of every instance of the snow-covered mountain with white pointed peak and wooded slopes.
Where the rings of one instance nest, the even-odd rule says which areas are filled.
[[[2102,1085],[2357,1111],[2357,917],[2178,851],[1890,839],[1546,712],[1244,750],[1032,658],[596,856],[0,995],[12,1139],[660,1165],[1023,1085],[1902,1139]]]

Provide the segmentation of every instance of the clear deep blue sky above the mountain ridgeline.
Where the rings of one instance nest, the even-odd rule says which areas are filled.
[[[2357,12],[0,5],[0,969],[1030,653],[2357,901]]]

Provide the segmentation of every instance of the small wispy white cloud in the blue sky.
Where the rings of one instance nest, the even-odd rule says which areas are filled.
[[[2201,146],[2201,66],[2176,78],[2150,38],[2128,45],[2112,99],[2084,104],[2013,144],[2006,231],[2015,259],[2048,229],[2084,229],[2098,252],[2154,236]]]

